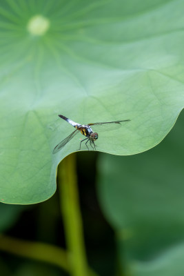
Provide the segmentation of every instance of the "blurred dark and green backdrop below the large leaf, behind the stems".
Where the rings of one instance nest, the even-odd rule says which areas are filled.
[[[88,262],[101,276],[183,275],[184,113],[147,152],[76,156]],[[32,206],[1,204],[1,232],[65,248],[59,195]],[[61,268],[1,251],[6,275],[68,275]]]

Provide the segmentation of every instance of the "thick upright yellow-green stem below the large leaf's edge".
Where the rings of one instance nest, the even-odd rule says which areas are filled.
[[[71,276],[96,275],[88,268],[83,240],[83,226],[76,183],[76,157],[65,157],[58,170],[61,212],[68,245]]]

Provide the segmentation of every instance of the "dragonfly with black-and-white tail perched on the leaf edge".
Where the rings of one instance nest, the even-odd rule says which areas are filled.
[[[65,117],[63,115],[58,115],[58,116],[61,119],[67,121],[70,125],[74,126],[74,128],[76,128],[76,130],[74,130],[74,132],[72,132],[70,135],[68,135],[68,137],[63,139],[63,141],[61,141],[57,146],[55,146],[55,148],[52,152],[53,154],[59,152],[59,150],[61,150],[66,144],[68,144],[68,142],[79,132],[81,132],[81,134],[85,136],[85,139],[83,139],[80,142],[79,150],[81,150],[81,143],[83,141],[85,141],[85,146],[87,148],[88,148],[88,142],[90,142],[90,146],[92,147],[92,149],[96,150],[96,145],[94,144],[94,141],[96,141],[99,138],[99,135],[97,132],[93,132],[93,130],[92,130],[93,126],[98,127],[99,130],[101,130],[104,127],[105,127],[105,130],[107,130],[108,128],[110,130],[113,130],[114,127],[119,128],[121,126],[121,123],[123,123],[125,121],[130,121],[130,119],[126,119],[126,120],[122,120],[122,121],[107,121],[107,122],[103,122],[103,123],[93,123],[93,124],[82,125],[82,124],[78,124],[78,123],[68,119],[67,117]],[[89,150],[89,148],[88,148],[88,150]]]

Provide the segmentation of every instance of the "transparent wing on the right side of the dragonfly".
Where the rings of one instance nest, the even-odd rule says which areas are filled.
[[[125,121],[130,121],[130,119],[122,120],[122,121],[107,121],[103,123],[94,123],[94,124],[88,124],[88,126],[94,126],[94,129],[100,130],[100,131],[106,131],[106,130],[116,130],[117,128],[121,128],[121,123]]]

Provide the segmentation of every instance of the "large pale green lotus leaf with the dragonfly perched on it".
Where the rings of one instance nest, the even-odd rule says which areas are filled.
[[[98,150],[132,155],[158,144],[183,108],[178,1],[3,1],[0,7],[0,200],[33,204],[56,189],[72,127],[131,119],[99,133]],[[85,150],[85,147],[83,148]]]

